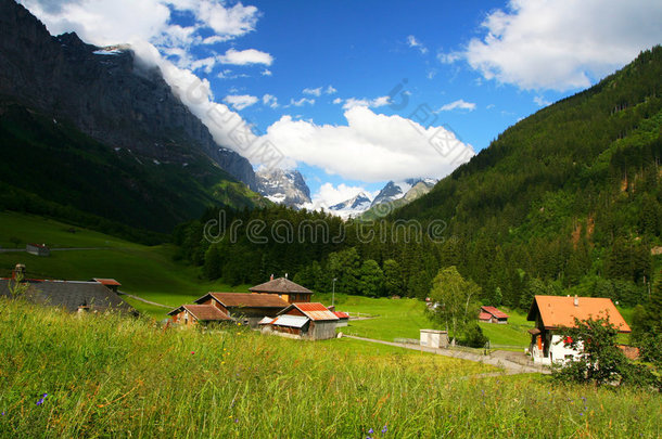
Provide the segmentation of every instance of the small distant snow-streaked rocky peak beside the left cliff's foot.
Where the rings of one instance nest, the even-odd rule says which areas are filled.
[[[310,203],[310,189],[297,170],[264,169],[256,177],[258,192],[273,203],[294,208]]]

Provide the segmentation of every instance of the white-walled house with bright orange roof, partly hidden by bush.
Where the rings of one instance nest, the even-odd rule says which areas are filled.
[[[574,319],[600,319],[609,317],[609,321],[621,333],[629,333],[629,326],[608,298],[601,297],[563,297],[535,296],[526,320],[535,322],[535,327],[529,330],[531,346],[529,348],[533,361],[542,364],[562,363],[575,359],[580,352],[566,347],[562,336],[558,334],[561,327],[573,327]]]

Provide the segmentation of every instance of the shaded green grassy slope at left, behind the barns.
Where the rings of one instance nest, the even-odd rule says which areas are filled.
[[[100,250],[52,251],[48,258],[26,253],[0,253],[0,275],[8,275],[18,262],[25,263],[30,277],[88,280],[114,277],[122,290],[160,304],[178,306],[209,290],[245,290],[246,285],[230,287],[199,279],[199,269],[173,260],[169,245],[148,247],[76,228],[54,220],[22,214],[0,212],[0,245],[13,248],[12,236],[26,242],[56,247],[110,247]],[[167,310],[128,300],[132,306],[156,318]]]

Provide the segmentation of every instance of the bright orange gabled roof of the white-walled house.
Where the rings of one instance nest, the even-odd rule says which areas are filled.
[[[574,319],[599,319],[609,317],[609,321],[622,333],[629,333],[629,326],[611,301],[602,297],[577,297],[577,306],[574,297],[564,296],[535,296],[526,320],[534,321],[540,314],[543,325],[547,330],[561,326],[574,326]]]

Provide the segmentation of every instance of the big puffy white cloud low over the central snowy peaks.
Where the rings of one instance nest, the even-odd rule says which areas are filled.
[[[415,176],[441,178],[473,156],[443,127],[424,128],[400,116],[355,106],[344,113],[345,126],[315,125],[282,116],[264,135],[288,157],[290,166],[306,163],[359,181]]]

